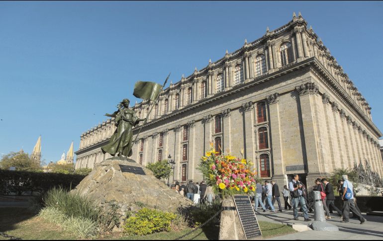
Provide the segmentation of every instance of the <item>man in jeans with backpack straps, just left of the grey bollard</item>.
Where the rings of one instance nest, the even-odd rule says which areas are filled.
[[[292,180],[288,183],[288,189],[291,193],[292,206],[294,210],[294,220],[298,220],[298,205],[302,207],[304,221],[311,221],[308,218],[307,206],[304,197],[302,196],[302,183],[299,181],[297,174],[292,175]]]

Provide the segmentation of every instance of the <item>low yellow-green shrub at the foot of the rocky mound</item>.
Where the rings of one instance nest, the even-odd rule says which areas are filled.
[[[169,212],[143,208],[135,216],[126,219],[124,232],[127,235],[148,235],[157,232],[170,232],[172,220],[176,215]]]

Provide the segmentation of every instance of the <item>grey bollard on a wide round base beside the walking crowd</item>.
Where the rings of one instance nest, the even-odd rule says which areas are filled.
[[[320,191],[314,191],[314,200],[315,221],[309,225],[310,228],[316,231],[339,231],[337,226],[326,222]]]

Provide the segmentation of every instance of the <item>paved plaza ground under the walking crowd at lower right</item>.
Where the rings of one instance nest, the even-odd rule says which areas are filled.
[[[260,210],[260,209],[258,209]],[[278,209],[276,209],[278,210]],[[261,210],[262,212],[262,210]],[[284,224],[304,224],[307,225],[310,222],[304,222],[303,214],[298,212],[299,220],[293,220],[292,209],[280,213],[266,213],[270,217],[275,219],[291,219],[284,222]],[[314,213],[309,213],[309,218],[314,221]],[[351,214],[350,214],[351,215]],[[362,213],[363,217],[367,219],[364,224],[360,224],[357,219],[350,219],[350,223],[340,223],[342,220],[337,214],[331,214],[331,219],[326,222],[336,225],[339,228],[338,232],[321,232],[321,231],[304,231],[295,234],[289,234],[285,236],[274,237],[270,240],[383,240],[383,217],[381,216],[370,216],[366,213]],[[258,221],[267,221],[274,223],[281,223],[273,221],[262,215],[257,215]]]

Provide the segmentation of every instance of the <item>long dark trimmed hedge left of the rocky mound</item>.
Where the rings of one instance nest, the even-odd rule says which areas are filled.
[[[14,193],[24,195],[28,192],[45,193],[53,187],[75,188],[86,175],[50,172],[11,171],[0,169],[0,195]]]

